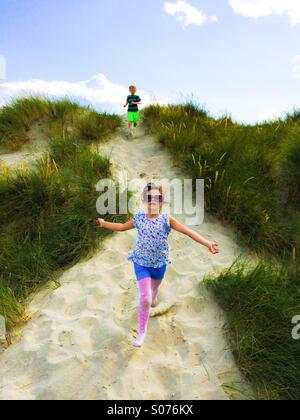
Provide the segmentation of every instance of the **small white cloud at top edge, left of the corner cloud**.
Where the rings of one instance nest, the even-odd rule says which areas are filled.
[[[189,4],[186,0],[177,0],[176,3],[165,2],[164,10],[167,14],[175,16],[184,28],[189,25],[203,25],[206,21],[217,22],[217,16],[206,16],[202,10]]]

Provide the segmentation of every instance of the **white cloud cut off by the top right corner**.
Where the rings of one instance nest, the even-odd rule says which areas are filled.
[[[300,23],[299,0],[229,0],[229,5],[245,17],[287,15],[293,26]]]

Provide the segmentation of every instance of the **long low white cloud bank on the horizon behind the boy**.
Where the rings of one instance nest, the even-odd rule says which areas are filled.
[[[142,96],[144,106],[150,103],[168,103],[167,97],[154,98],[144,91],[139,93]],[[14,98],[28,95],[50,98],[68,97],[84,104],[90,104],[97,110],[124,113],[122,104],[125,103],[128,88],[111,82],[103,74],[77,83],[39,79],[0,83],[0,104],[2,105]]]

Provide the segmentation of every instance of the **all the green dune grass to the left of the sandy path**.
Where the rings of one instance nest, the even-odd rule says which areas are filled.
[[[22,319],[30,293],[107,235],[95,227],[95,187],[110,177],[110,162],[92,142],[117,129],[120,118],[69,101],[22,99],[0,111],[0,142],[16,149],[40,119],[49,134],[45,157],[31,169],[0,168],[0,314],[8,328]]]

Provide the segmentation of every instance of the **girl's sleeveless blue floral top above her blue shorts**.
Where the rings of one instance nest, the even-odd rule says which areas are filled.
[[[161,268],[170,264],[168,238],[171,226],[169,215],[162,214],[155,219],[150,219],[144,211],[139,211],[133,221],[138,230],[138,239],[128,259],[143,267],[151,268]]]

